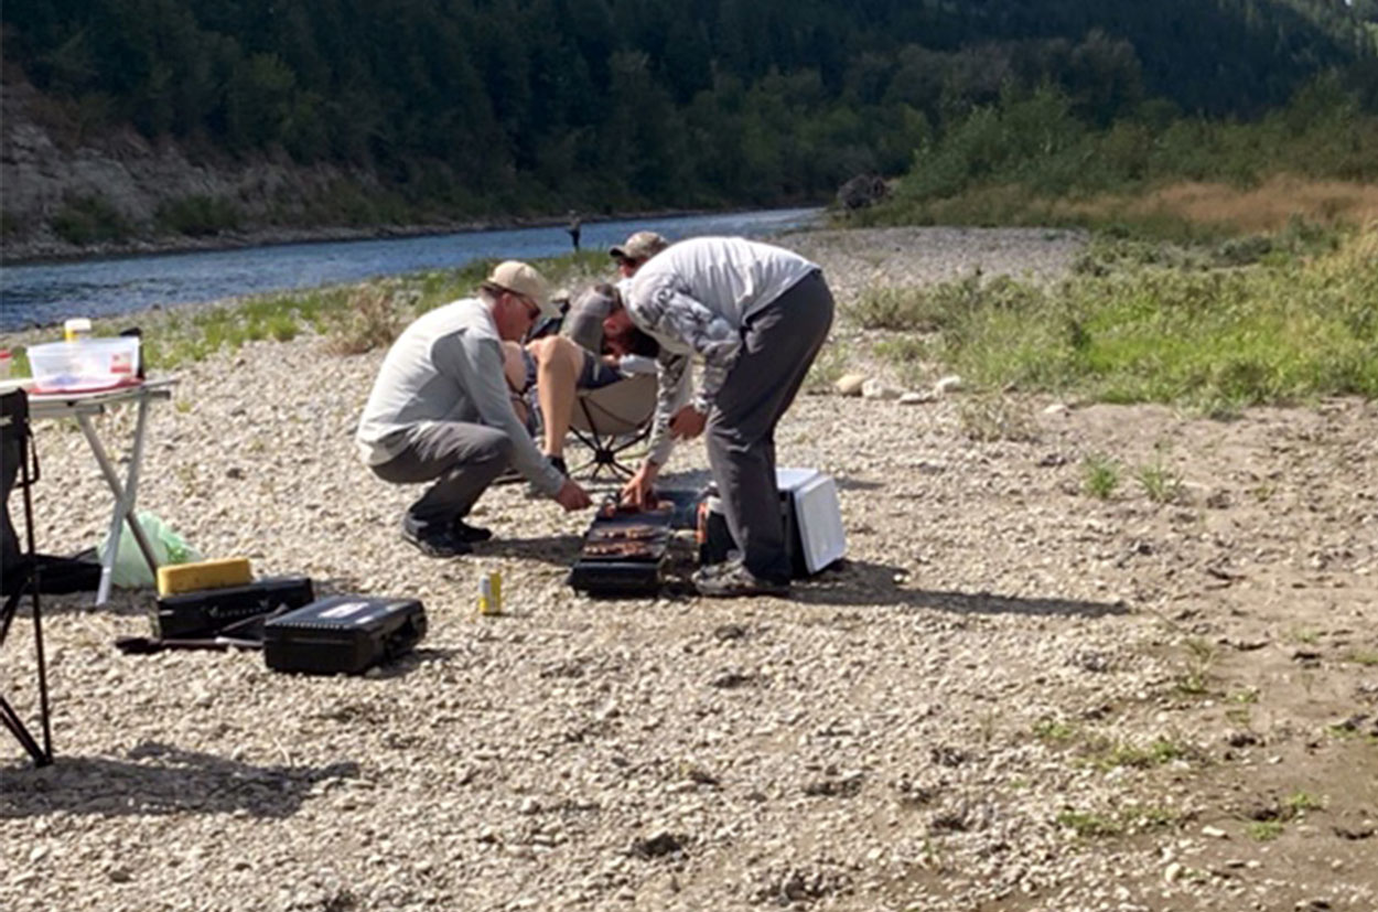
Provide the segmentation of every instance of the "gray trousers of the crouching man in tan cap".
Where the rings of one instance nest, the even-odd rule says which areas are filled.
[[[513,442],[486,424],[442,422],[405,431],[407,448],[373,474],[394,485],[435,481],[407,510],[402,524],[418,535],[449,528],[511,463]]]

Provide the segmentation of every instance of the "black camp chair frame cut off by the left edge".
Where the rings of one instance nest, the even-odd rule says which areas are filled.
[[[8,592],[0,608],[0,649],[10,636],[10,627],[19,610],[19,602],[29,595],[33,606],[33,647],[37,656],[39,676],[39,726],[41,744],[29,732],[18,711],[0,692],[0,723],[19,741],[36,766],[52,763],[52,726],[48,716],[48,670],[43,656],[43,612],[39,605],[43,562],[37,559],[33,536],[33,493],[30,488],[39,481],[39,457],[33,452],[29,427],[29,397],[22,390],[0,397],[0,489],[6,499],[14,486],[23,492],[23,519],[28,552],[18,551],[17,536],[12,535],[8,512],[4,517],[7,546],[3,557],[3,574]],[[18,484],[17,484],[18,482]],[[4,663],[0,663],[4,667]],[[0,682],[3,683],[3,682]]]

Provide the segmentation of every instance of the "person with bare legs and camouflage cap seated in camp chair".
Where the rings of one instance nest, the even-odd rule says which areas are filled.
[[[602,322],[621,309],[621,288],[637,270],[667,247],[670,241],[660,234],[637,231],[608,252],[621,276],[616,285],[599,282],[575,298],[561,321],[559,335],[535,339],[524,349],[508,344],[508,384],[526,400],[535,390],[546,457],[565,474],[565,437],[579,391],[598,390],[656,369],[653,358],[659,346],[653,339],[644,336],[635,350],[610,354],[604,346]]]

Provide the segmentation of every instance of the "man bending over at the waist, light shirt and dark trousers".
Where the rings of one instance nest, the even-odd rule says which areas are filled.
[[[706,568],[695,583],[704,595],[788,592],[774,428],[832,325],[823,271],[770,244],[700,237],[642,266],[624,304],[604,321],[608,346],[624,351],[639,331],[660,354],[650,455],[623,499],[645,504],[674,439],[707,427],[708,463],[741,561]],[[703,358],[703,382],[678,408],[693,355]]]

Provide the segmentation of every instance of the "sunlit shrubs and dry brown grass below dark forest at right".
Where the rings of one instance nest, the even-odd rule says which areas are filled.
[[[1213,240],[1302,219],[1378,218],[1378,116],[1320,77],[1253,123],[1181,117],[1158,103],[1104,127],[1054,88],[1007,91],[915,154],[856,225],[1036,225]]]

